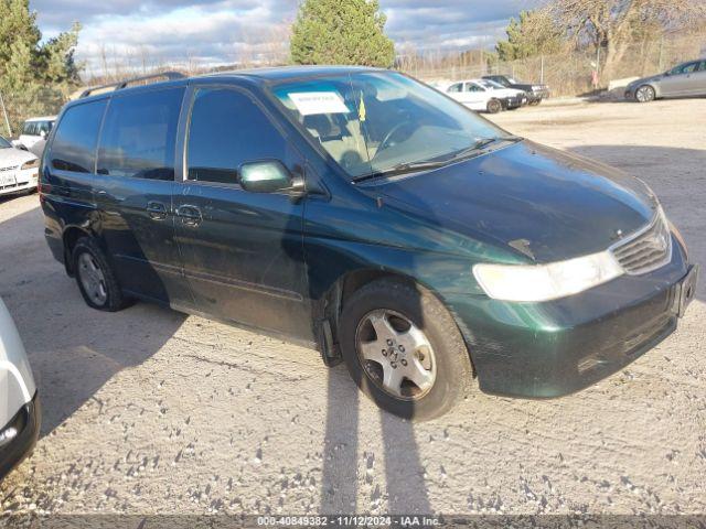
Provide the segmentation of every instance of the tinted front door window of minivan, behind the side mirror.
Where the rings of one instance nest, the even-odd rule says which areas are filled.
[[[242,163],[287,162],[287,141],[245,94],[227,88],[196,91],[189,130],[189,180],[237,183]]]

